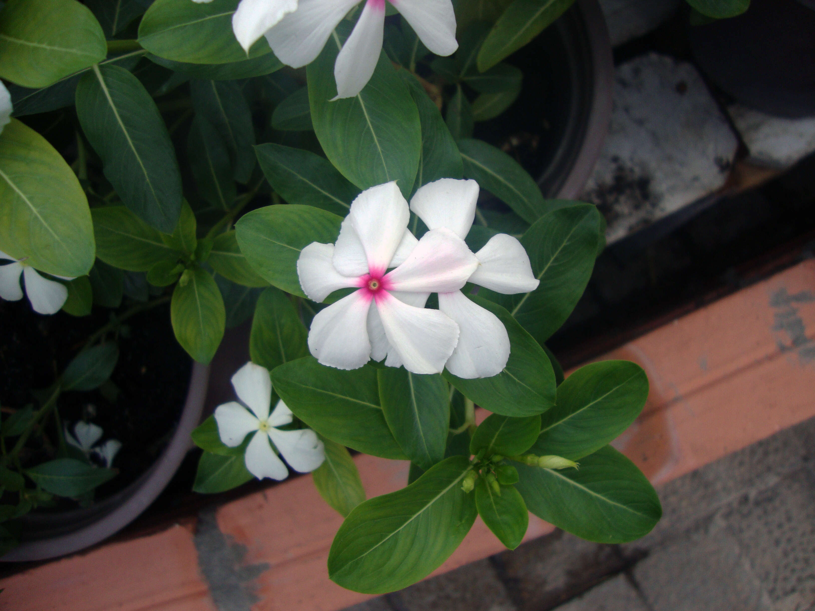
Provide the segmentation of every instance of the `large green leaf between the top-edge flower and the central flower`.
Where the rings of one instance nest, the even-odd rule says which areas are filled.
[[[333,165],[360,189],[395,180],[409,196],[421,156],[416,103],[381,51],[368,85],[354,98],[337,99],[337,34],[308,67],[311,121]]]

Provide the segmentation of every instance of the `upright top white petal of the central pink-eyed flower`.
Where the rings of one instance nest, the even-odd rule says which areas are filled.
[[[348,218],[365,249],[368,270],[372,274],[384,273],[410,220],[410,209],[396,182],[385,182],[360,193],[351,204]]]

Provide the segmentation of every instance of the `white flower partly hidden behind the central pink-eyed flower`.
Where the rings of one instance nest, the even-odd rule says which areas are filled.
[[[475,218],[478,182],[442,178],[416,191],[410,209],[430,231],[447,228],[464,239]],[[468,281],[492,291],[512,295],[538,288],[529,256],[511,235],[498,234],[475,253],[478,267]],[[439,292],[438,309],[458,323],[458,345],[447,361],[447,371],[461,378],[496,376],[509,359],[509,336],[498,317],[477,306],[459,291]]]

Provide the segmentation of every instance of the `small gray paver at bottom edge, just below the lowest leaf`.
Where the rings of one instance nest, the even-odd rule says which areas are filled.
[[[396,611],[516,611],[489,560],[388,595]]]

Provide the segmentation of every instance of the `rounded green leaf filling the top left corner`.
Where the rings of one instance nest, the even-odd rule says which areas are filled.
[[[0,12],[0,77],[47,87],[102,61],[99,22],[76,0],[9,0]]]

